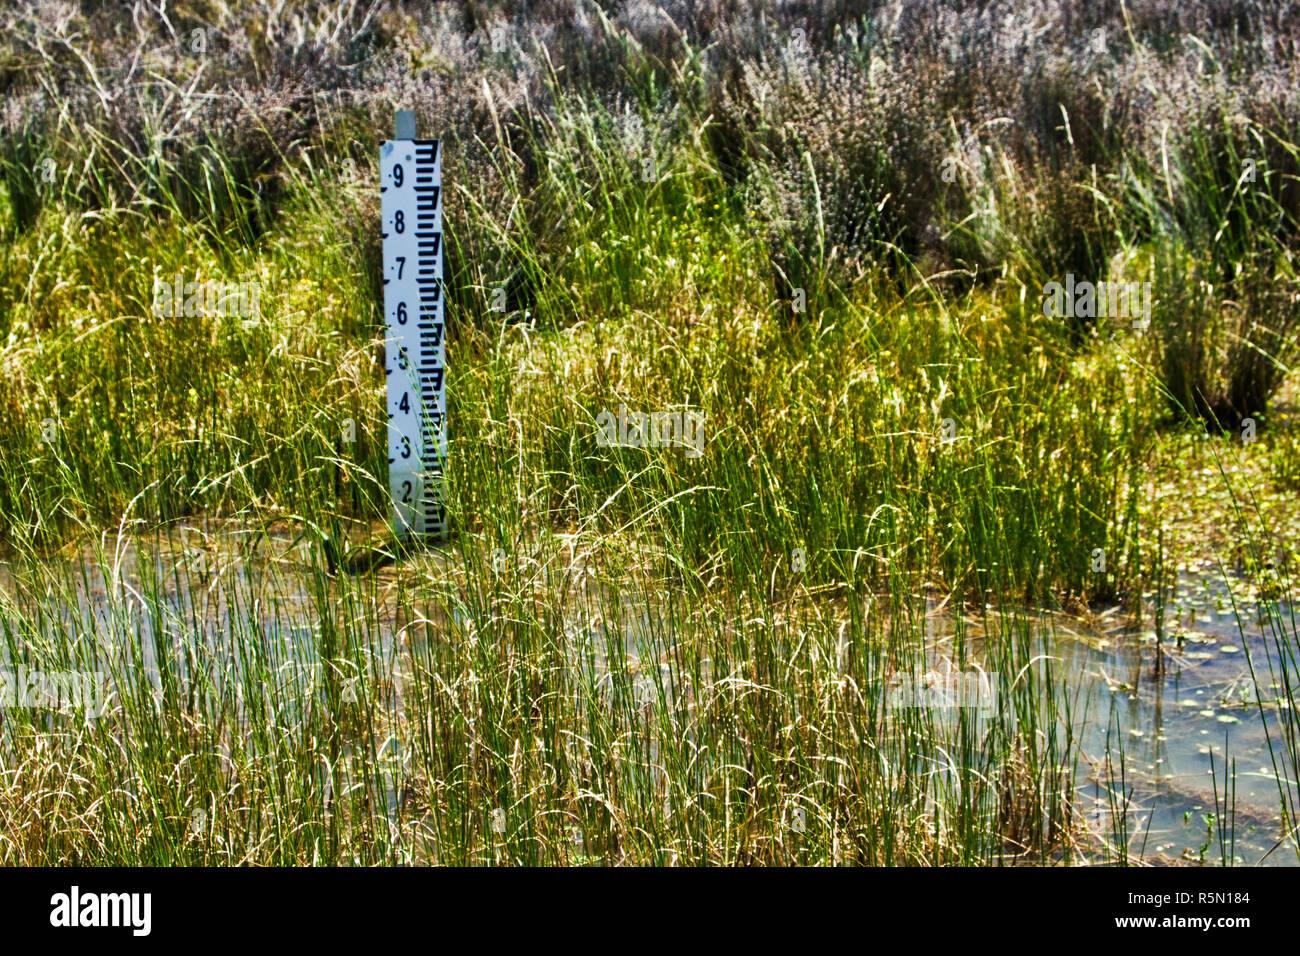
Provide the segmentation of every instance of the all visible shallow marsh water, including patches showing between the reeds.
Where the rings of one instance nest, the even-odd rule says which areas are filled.
[[[135,648],[138,657],[131,667],[114,669],[114,680],[143,674],[161,688],[162,672],[176,676],[181,667],[182,683],[202,674],[220,695],[238,687],[247,667],[256,665],[261,675],[278,682],[282,698],[316,697],[322,650],[329,646],[316,611],[313,575],[302,561],[259,564],[228,555],[224,567],[199,568],[196,578],[192,564],[176,574],[176,555],[155,557],[146,587],[134,550],[114,554],[107,571],[103,554],[90,564],[84,558],[72,562],[68,574],[51,579],[68,587],[47,588],[36,617],[30,585],[16,589],[13,574],[0,566],[0,614],[6,623],[20,617],[29,622],[26,630],[10,628],[4,666],[16,663],[16,650],[30,663],[32,653],[53,646],[56,639],[108,639]],[[350,640],[364,645],[368,683],[382,684],[385,700],[399,713],[406,684],[400,649],[411,635],[386,609],[395,574],[390,568],[387,578],[367,585],[377,610],[361,628],[364,636],[358,640],[354,631]],[[1139,627],[1119,609],[1100,613],[1088,626],[1061,614],[1026,614],[1032,622],[1032,666],[1040,676],[1050,675],[1045,685],[1062,698],[1058,711],[1067,714],[1065,722],[1078,743],[1074,800],[1096,839],[1097,861],[1122,856],[1154,864],[1219,864],[1227,857],[1236,865],[1296,865],[1295,838],[1286,836],[1300,806],[1297,741],[1288,739],[1296,719],[1287,711],[1283,675],[1292,675],[1294,684],[1300,649],[1291,607],[1243,602],[1243,591],[1231,578],[1186,574],[1160,628],[1150,609]],[[673,641],[663,633],[663,617],[649,605],[623,601],[611,620],[607,606],[597,604],[601,610],[576,602],[564,628],[573,666],[586,669],[597,693],[607,689],[615,669],[636,674],[633,687],[645,697],[638,702],[675,693],[671,669],[662,663]],[[1279,617],[1284,628],[1270,624]],[[35,630],[34,619],[40,622]],[[432,631],[424,628],[422,639],[455,640],[464,624],[462,611],[450,611],[436,619]],[[922,637],[927,661],[952,659],[962,631],[975,636],[978,659],[982,626],[976,618],[958,622],[950,609],[928,601]],[[179,645],[159,640],[173,632],[188,635],[179,662],[166,650]],[[342,675],[344,693],[355,676]],[[400,749],[396,741],[394,747]],[[395,799],[390,791],[390,806]],[[1283,808],[1292,817],[1290,825]],[[1117,851],[1121,845],[1127,848],[1123,855]]]

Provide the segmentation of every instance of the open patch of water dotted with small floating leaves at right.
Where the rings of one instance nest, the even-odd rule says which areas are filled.
[[[1044,641],[1060,674],[1084,691],[1080,801],[1134,858],[1296,865],[1279,813],[1294,814],[1300,796],[1283,678],[1300,653],[1291,607],[1239,606],[1239,626],[1216,609],[1232,606],[1225,581],[1187,576],[1179,592],[1192,610],[1182,628],[1169,615],[1162,641],[1150,630],[1066,623]]]

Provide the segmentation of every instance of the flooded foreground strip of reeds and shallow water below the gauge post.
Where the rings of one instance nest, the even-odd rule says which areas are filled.
[[[1234,578],[1180,575],[1156,628],[1154,596],[1145,617],[1080,619],[937,593],[684,594],[640,568],[610,587],[572,541],[477,591],[476,561],[329,576],[302,538],[250,549],[183,524],[8,561],[6,661],[103,675],[107,708],[17,715],[5,757],[38,736],[124,748],[183,730],[165,816],[133,799],[164,770],[139,757],[94,761],[112,787],[84,810],[121,814],[124,839],[166,827],[164,856],[142,858],[169,861],[238,862],[277,812],[318,818],[313,852],[382,834],[374,862],[870,860],[835,845],[850,797],[907,839],[881,862],[930,861],[906,856],[918,843],[954,862],[1297,861],[1290,606],[1247,606]],[[978,693],[936,693],[963,676]],[[264,761],[291,767],[278,806],[250,803]],[[476,788],[482,816],[458,830],[452,793]],[[719,844],[719,813],[755,804],[771,818],[749,845]]]

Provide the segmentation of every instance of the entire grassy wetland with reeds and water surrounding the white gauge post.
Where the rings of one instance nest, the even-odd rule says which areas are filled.
[[[104,706],[6,695],[0,862],[1300,862],[1270,5],[47,5],[0,40],[0,669]],[[1141,321],[1045,313],[1084,285]]]

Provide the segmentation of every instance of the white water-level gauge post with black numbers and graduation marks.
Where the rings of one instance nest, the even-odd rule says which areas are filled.
[[[380,144],[389,492],[399,537],[446,535],[446,323],[442,310],[442,150],[399,111]]]

